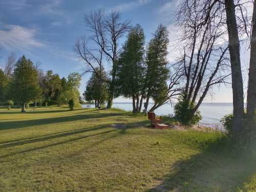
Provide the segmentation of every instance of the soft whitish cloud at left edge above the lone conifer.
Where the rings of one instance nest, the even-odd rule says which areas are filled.
[[[35,38],[36,29],[28,29],[17,25],[5,25],[0,29],[0,46],[7,50],[20,51],[44,47],[45,44]]]

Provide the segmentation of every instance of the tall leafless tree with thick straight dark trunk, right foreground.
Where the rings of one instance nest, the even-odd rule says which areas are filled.
[[[246,0],[184,0],[183,9],[194,11],[197,4],[200,11],[198,23],[206,26],[210,17],[218,16],[216,24],[223,24],[228,32],[228,50],[230,57],[232,91],[233,91],[233,130],[238,136],[242,130],[244,114],[243,78],[240,60],[240,41],[249,37],[249,16],[246,10]]]

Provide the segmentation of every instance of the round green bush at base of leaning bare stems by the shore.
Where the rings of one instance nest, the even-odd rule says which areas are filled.
[[[200,111],[193,114],[195,104],[190,101],[185,101],[183,97],[179,98],[174,107],[175,118],[184,125],[193,125],[198,123],[202,116]]]

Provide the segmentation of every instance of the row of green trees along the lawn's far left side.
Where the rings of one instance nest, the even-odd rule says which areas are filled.
[[[0,104],[22,106],[62,105],[73,99],[79,105],[81,76],[71,73],[68,78],[60,78],[53,71],[44,73],[30,59],[23,55],[16,61],[15,54],[6,60],[3,70],[0,69]]]

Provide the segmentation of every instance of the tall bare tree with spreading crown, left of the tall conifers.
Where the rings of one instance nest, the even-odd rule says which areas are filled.
[[[112,11],[110,14],[104,14],[103,11],[99,10],[89,15],[86,15],[85,22],[88,31],[92,33],[92,35],[89,38],[90,43],[94,44],[98,51],[102,51],[106,60],[111,61],[112,70],[111,80],[109,82],[109,100],[107,105],[107,108],[111,108],[115,94],[115,80],[117,70],[116,61],[122,49],[119,45],[119,41],[120,38],[123,37],[123,35],[125,35],[125,33],[131,29],[130,21],[122,21],[121,14],[118,11]],[[84,44],[82,41],[80,41],[80,43],[77,43],[77,45],[79,44],[82,46],[76,46],[76,50],[77,48],[81,49],[80,51],[77,50],[76,52],[82,53],[79,53],[78,55],[80,57],[83,55],[83,57],[81,58],[85,60],[87,64],[89,64],[88,61],[92,61],[90,60],[90,57],[93,57],[93,60],[95,60],[95,58],[98,58],[98,54],[94,55],[95,53],[93,53],[92,50],[84,47],[86,46],[86,44]],[[83,49],[83,47],[85,49]],[[85,52],[83,52],[82,49]],[[85,55],[87,55],[88,57],[84,57]],[[93,64],[91,63],[91,65],[89,64],[89,66],[92,68]]]

